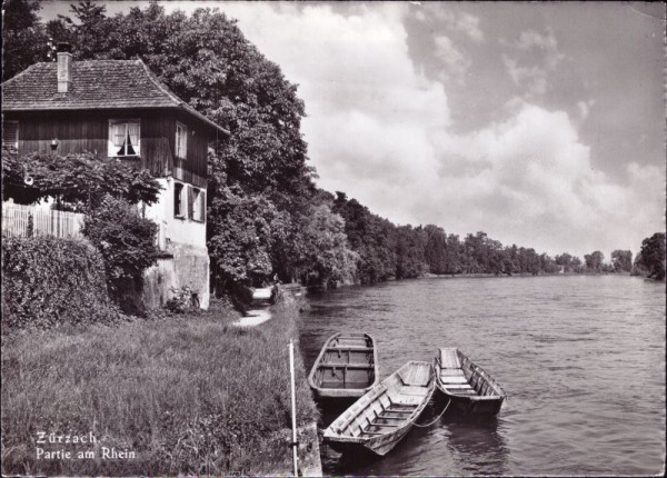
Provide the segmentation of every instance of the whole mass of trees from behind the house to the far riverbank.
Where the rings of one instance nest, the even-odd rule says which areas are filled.
[[[344,192],[320,190],[300,132],[305,106],[297,87],[217,9],[168,14],[151,2],[109,17],[104,6],[82,1],[71,6],[71,17],[46,24],[40,9],[27,0],[6,6],[3,80],[46,61],[53,38],[70,42],[76,60],[140,58],[177,96],[230,130],[208,158],[207,233],[218,291],[272,278],[327,286],[427,272],[660,277],[655,263],[660,243],[664,263],[664,235],[634,262],[628,250],[614,251],[610,263],[600,251],[583,260],[567,252],[551,258],[481,231],[459,237],[434,225],[396,226]]]

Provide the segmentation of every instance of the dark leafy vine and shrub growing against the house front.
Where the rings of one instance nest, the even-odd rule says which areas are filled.
[[[111,297],[125,311],[140,313],[135,291],[140,290],[143,270],[156,262],[157,225],[140,218],[135,205],[155,203],[158,181],[131,161],[88,152],[18,155],[4,148],[2,153],[3,199],[50,199],[59,209],[84,212],[82,232],[101,252]]]

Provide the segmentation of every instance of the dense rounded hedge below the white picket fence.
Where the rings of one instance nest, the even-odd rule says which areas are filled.
[[[110,322],[104,265],[87,241],[51,237],[2,241],[2,332]]]

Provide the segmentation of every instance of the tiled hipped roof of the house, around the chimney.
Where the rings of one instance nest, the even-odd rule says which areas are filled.
[[[36,63],[2,83],[3,111],[182,108],[223,131],[160,82],[141,60],[71,62],[71,86],[58,92],[56,62]]]

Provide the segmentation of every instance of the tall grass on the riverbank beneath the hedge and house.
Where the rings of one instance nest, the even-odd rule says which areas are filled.
[[[2,472],[22,475],[229,475],[290,469],[287,301],[253,329],[217,309],[3,337]],[[298,422],[317,410],[297,353]],[[40,431],[96,444],[37,442]],[[126,451],[103,458],[108,450]],[[37,458],[70,451],[71,458]],[[77,451],[94,458],[77,459]],[[132,454],[133,452],[133,458]],[[109,454],[107,454],[109,456]]]

